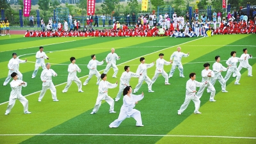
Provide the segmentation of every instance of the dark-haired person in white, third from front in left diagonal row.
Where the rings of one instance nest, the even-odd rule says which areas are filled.
[[[81,69],[76,65],[76,58],[70,58],[71,63],[68,65],[68,81],[67,85],[65,86],[63,93],[68,92],[68,88],[71,86],[72,81],[74,81],[78,86],[78,92],[82,92],[82,82],[77,77],[77,72],[81,72]]]

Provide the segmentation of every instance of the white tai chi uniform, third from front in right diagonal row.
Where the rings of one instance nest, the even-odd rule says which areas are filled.
[[[220,70],[227,71],[227,68],[223,67],[223,65],[221,65],[221,63],[218,63],[217,61],[215,63],[213,63],[212,71],[214,72],[214,77],[213,77],[211,83],[212,83],[212,85],[214,85],[218,79],[218,81],[221,84],[222,91],[225,91],[226,90],[226,81],[221,76]]]

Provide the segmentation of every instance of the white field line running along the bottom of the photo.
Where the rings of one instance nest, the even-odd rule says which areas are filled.
[[[0,134],[0,136],[161,136],[161,137],[196,137],[196,138],[237,138],[256,139],[255,137],[241,136],[189,136],[171,134]]]

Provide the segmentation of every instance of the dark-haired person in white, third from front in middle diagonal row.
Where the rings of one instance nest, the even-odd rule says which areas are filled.
[[[139,78],[139,81],[138,81],[138,84],[136,85],[133,93],[136,93],[138,92],[138,90],[140,89],[143,81],[145,81],[147,84],[148,84],[148,92],[149,93],[152,93],[154,91],[152,91],[152,81],[151,79],[147,76],[147,69],[150,68],[150,67],[153,67],[155,62],[153,61],[152,63],[150,64],[147,64],[145,63],[145,58],[140,58],[140,65],[138,66],[137,68],[137,71],[136,73],[137,74],[141,74],[140,78]]]

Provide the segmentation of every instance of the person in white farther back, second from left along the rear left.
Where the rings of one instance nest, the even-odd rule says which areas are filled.
[[[43,70],[45,69],[45,63],[44,63],[45,59],[49,60],[49,57],[45,54],[44,47],[39,47],[39,51],[36,52],[35,70],[32,74],[32,79],[36,77],[39,67],[42,67]]]

